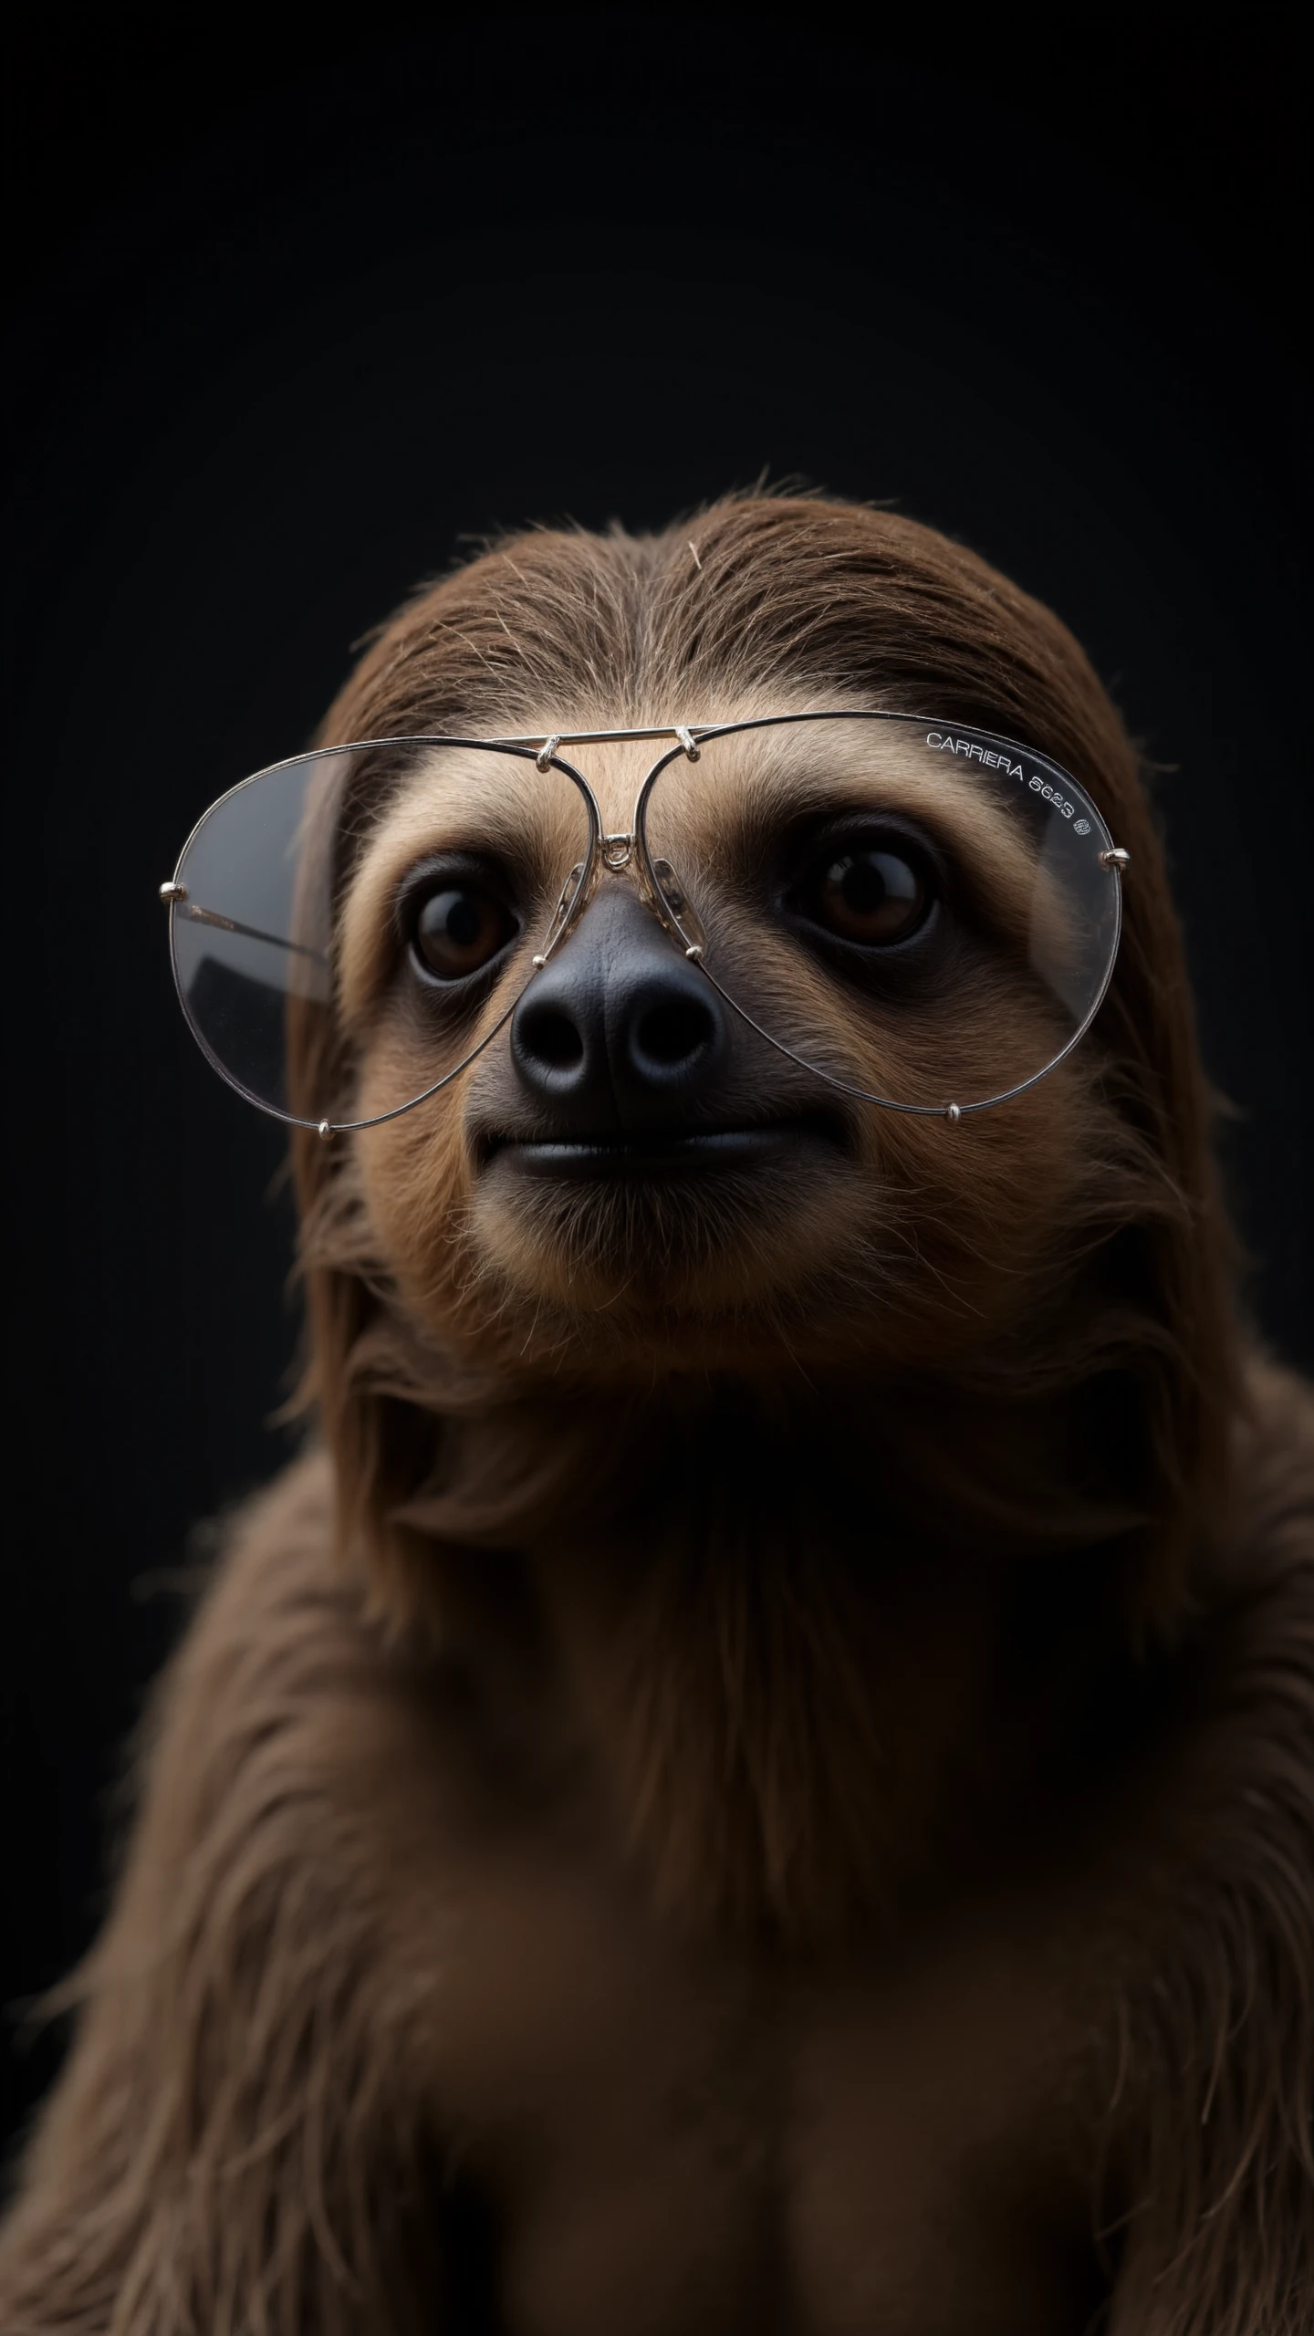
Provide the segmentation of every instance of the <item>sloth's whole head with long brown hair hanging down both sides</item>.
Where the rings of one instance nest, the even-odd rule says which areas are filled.
[[[299,1149],[313,1383],[369,1532],[475,1385],[606,1409],[734,1383],[860,1390],[888,1418],[1031,1406],[1069,1490],[1083,1437],[1120,1444],[1115,1497],[1085,1469],[1092,1516],[1181,1542],[1232,1371],[1206,1105],[1136,757],[1047,610],[926,528],[811,498],[722,502],[692,540],[531,533],[383,628],[323,743],[823,708],[1026,741],[1090,792],[1132,855],[1092,1030],[959,1124],[853,1093],[947,1100],[982,1063],[1008,1089],[1043,1044],[1026,983],[973,948],[973,883],[994,867],[1008,899],[1008,836],[952,759],[900,773],[898,726],[867,734],[858,806],[851,731],[673,752],[648,834],[718,981],[624,850],[533,972],[587,841],[566,776],[449,752],[362,780],[339,836],[341,1117],[486,1040],[414,1110]],[[617,836],[664,752],[561,750]]]

